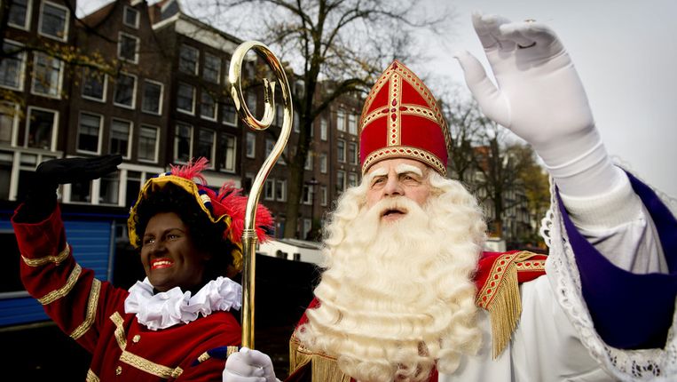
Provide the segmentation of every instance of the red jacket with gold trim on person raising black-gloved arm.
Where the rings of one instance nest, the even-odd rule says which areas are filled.
[[[214,312],[188,324],[148,330],[124,313],[127,290],[80,267],[66,242],[59,207],[39,223],[12,221],[22,255],[21,280],[51,319],[92,354],[87,380],[220,380],[224,362],[209,349],[240,344],[240,324]]]

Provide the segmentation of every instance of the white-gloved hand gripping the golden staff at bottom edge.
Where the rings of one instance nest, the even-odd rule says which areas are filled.
[[[223,377],[224,382],[279,382],[271,357],[248,347],[228,356]]]

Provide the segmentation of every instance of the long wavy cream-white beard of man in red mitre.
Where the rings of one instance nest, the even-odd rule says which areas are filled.
[[[471,277],[485,226],[475,200],[457,187],[431,196],[425,211],[398,197],[351,217],[356,209],[342,204],[356,202],[341,201],[315,290],[320,306],[296,333],[303,346],[336,357],[352,378],[383,382],[427,380],[436,364],[453,372],[461,354],[476,353]],[[408,213],[383,222],[393,207]]]

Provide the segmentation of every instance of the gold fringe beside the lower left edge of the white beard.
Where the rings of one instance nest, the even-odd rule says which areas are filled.
[[[311,353],[292,335],[289,339],[289,374],[308,362],[311,362],[312,382],[350,382],[350,376],[343,374],[335,358]]]

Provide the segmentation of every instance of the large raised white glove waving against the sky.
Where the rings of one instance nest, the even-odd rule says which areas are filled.
[[[610,163],[586,92],[555,32],[536,21],[473,14],[498,87],[468,52],[456,58],[484,112],[531,144],[563,194],[601,195],[625,175]]]

